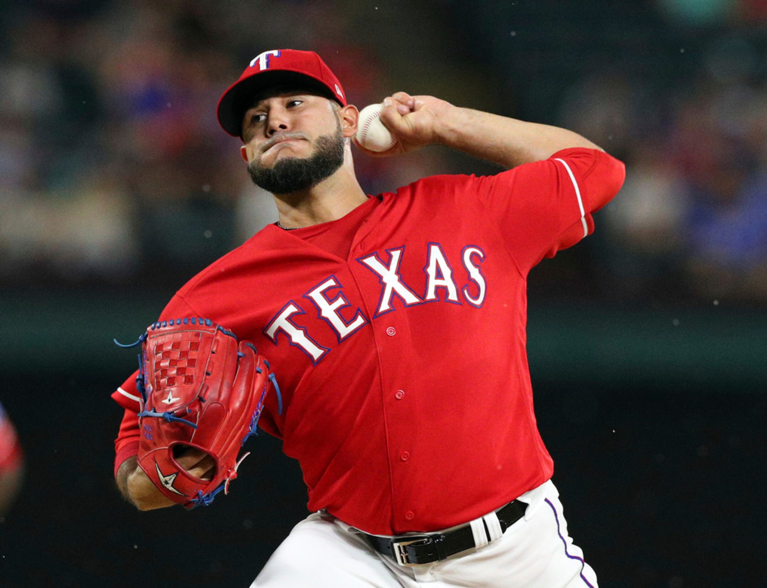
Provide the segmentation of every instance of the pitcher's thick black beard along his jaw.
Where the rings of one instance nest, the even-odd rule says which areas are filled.
[[[318,138],[314,155],[301,159],[285,157],[271,168],[248,164],[253,183],[272,194],[290,194],[316,186],[332,176],[344,164],[344,135],[339,129],[334,135]]]

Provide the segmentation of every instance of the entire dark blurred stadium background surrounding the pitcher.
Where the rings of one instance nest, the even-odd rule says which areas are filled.
[[[276,219],[214,112],[285,47],[360,106],[434,94],[627,163],[597,232],[530,277],[571,535],[607,588],[767,586],[765,23],[758,0],[3,4],[0,399],[27,475],[0,586],[247,586],[307,514],[267,435],[210,508],[140,513],[111,473],[109,394],[135,363],[111,339]],[[370,193],[495,171],[441,148],[355,163]]]

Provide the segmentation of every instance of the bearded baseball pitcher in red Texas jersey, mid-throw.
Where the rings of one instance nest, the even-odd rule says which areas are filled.
[[[255,57],[218,119],[279,220],[142,336],[113,394],[123,494],[209,504],[258,423],[300,463],[312,514],[252,586],[597,586],[535,422],[526,281],[593,232],[623,164],[568,130],[398,92],[375,155],[441,144],[505,171],[367,195],[359,110],[310,51]]]

